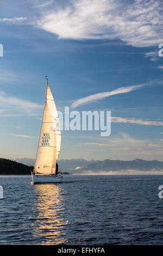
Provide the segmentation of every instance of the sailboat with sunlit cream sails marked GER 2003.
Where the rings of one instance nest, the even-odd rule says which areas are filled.
[[[56,163],[60,154],[61,132],[57,108],[46,76],[46,97],[43,110],[39,144],[35,167],[32,174],[33,183],[58,183]]]

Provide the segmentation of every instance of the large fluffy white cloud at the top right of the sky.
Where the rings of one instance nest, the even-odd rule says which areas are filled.
[[[121,39],[136,47],[162,43],[161,0],[72,0],[42,13],[36,25],[59,38]]]

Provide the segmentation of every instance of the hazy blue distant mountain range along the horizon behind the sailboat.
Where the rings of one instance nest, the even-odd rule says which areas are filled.
[[[27,165],[34,166],[34,159],[16,159],[16,162],[20,162]],[[146,161],[142,159],[135,159],[131,161],[121,161],[121,160],[90,160],[85,159],[71,159],[71,160],[59,160],[59,170],[60,172],[70,172],[70,173],[100,173],[100,172],[122,172],[126,170],[135,170],[141,172],[161,172],[163,173],[163,162],[152,160]]]

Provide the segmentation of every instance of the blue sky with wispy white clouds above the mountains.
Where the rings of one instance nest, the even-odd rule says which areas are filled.
[[[61,131],[59,159],[162,161],[163,2],[1,0],[0,157],[35,158],[45,75],[58,111],[111,111],[111,135]]]

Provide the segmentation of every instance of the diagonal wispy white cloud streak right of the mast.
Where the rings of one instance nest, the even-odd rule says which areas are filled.
[[[72,103],[71,107],[75,108],[75,107],[85,105],[85,104],[88,104],[88,103],[91,103],[94,101],[102,100],[105,97],[109,97],[109,96],[117,95],[117,94],[129,93],[129,92],[132,92],[133,90],[141,89],[142,87],[145,87],[145,86],[152,86],[153,84],[156,85],[156,84],[160,84],[160,83],[161,82],[159,82],[159,81],[151,81],[151,82],[143,83],[143,84],[135,84],[134,86],[120,87],[115,90],[112,90],[111,92],[96,93],[96,94],[89,95],[89,96],[86,96],[86,97],[83,97],[81,99],[74,101]]]

